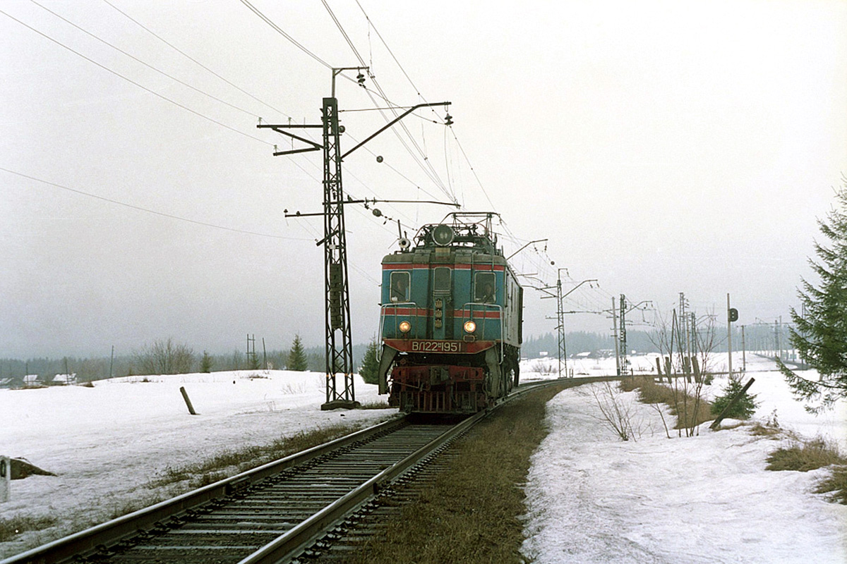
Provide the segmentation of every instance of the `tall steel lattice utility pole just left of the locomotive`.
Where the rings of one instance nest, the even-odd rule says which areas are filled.
[[[408,114],[421,107],[449,106],[450,102],[435,102],[417,104],[407,109],[397,118],[386,123],[381,129],[371,134],[367,139],[346,151],[341,152],[340,136],[344,126],[339,124],[338,100],[335,98],[335,77],[347,70],[358,72],[358,84],[364,87],[365,76],[362,71],[368,67],[342,67],[332,69],[332,95],[324,98],[321,110],[320,124],[269,124],[259,123],[257,128],[273,129],[277,133],[302,141],[309,145],[305,148],[290,151],[276,151],[274,156],[291,155],[307,151],[324,151],[324,211],[318,214],[302,214],[302,216],[324,216],[324,238],[318,241],[318,246],[324,245],[324,325],[326,334],[326,402],[321,409],[355,408],[355,390],[353,389],[353,342],[350,321],[350,285],[347,271],[347,245],[344,225],[344,198],[341,183],[341,162],[344,158],[363,146],[378,134],[389,129],[392,125],[405,118]],[[452,123],[450,114],[445,118],[445,124]],[[286,129],[305,128],[322,129],[322,143],[305,139]],[[301,214],[296,214],[300,216]],[[339,386],[337,376],[343,376],[344,383]]]

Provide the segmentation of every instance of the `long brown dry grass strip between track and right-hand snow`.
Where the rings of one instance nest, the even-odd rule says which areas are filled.
[[[561,389],[534,392],[505,406],[457,441],[459,452],[449,468],[348,562],[523,562],[521,484],[529,457],[548,432],[545,403]]]

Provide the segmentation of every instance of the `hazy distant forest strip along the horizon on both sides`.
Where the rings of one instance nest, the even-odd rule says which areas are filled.
[[[655,332],[627,331],[627,348],[629,353],[657,353],[658,349],[650,340],[651,335],[655,339]],[[521,348],[523,358],[539,358],[541,353],[556,355],[558,348],[558,337],[556,333],[545,333],[540,336],[528,337]],[[716,352],[727,350],[726,327],[716,328]],[[744,343],[744,344],[742,344]],[[579,353],[590,353],[598,350],[613,350],[615,343],[612,336],[608,334],[590,333],[585,331],[571,331],[566,338],[567,356]],[[733,348],[741,350],[744,346],[747,350],[773,351],[777,348],[789,348],[787,326],[775,324],[756,325],[745,327],[745,341],[742,340],[741,330],[738,326],[733,328]],[[366,343],[353,346],[353,360],[356,366],[361,364],[368,345]],[[243,349],[235,349],[232,353],[208,354],[204,362],[204,351],[191,351],[191,370],[202,372],[206,364],[208,371],[219,372],[222,370],[261,370],[267,361],[268,366],[275,369],[285,369],[288,362],[289,350],[268,351],[264,355],[262,350],[257,350],[255,361],[248,358]],[[324,371],[324,347],[304,348],[307,358],[308,370],[315,372]],[[124,354],[115,356],[113,361],[108,357],[80,359],[75,357],[64,357],[61,359],[0,359],[0,380],[4,378],[22,378],[24,375],[53,376],[57,374],[75,374],[77,381],[96,381],[113,376],[142,375],[141,353]],[[110,366],[111,364],[111,366]]]

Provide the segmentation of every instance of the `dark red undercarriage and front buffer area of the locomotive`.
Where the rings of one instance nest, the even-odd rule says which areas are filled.
[[[519,349],[476,354],[400,353],[390,375],[389,405],[407,413],[475,413],[518,385]]]

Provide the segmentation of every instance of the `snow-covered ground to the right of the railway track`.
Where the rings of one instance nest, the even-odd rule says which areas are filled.
[[[522,375],[545,377],[527,373],[545,371],[544,362],[524,364]],[[815,417],[794,402],[772,360],[748,358],[747,368],[756,378],[750,393],[761,401],[757,419],[776,410],[784,429],[844,449],[847,403]],[[614,359],[584,361],[576,371],[607,370]],[[717,379],[707,393],[725,382]],[[637,441],[620,441],[598,422],[584,386],[548,404],[551,434],[534,454],[526,486],[525,556],[538,564],[847,562],[847,507],[812,493],[825,470],[765,470],[784,441],[750,435],[747,426],[714,432],[706,424],[699,436],[668,440],[659,414],[636,402],[635,392],[621,398],[636,410]]]

